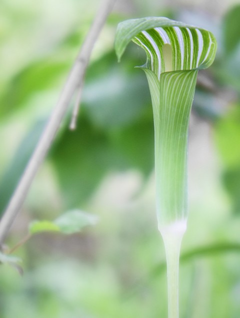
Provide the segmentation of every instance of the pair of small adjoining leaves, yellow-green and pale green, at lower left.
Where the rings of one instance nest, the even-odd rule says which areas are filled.
[[[96,215],[88,214],[80,210],[68,211],[60,215],[54,221],[32,221],[29,224],[28,231],[30,234],[40,232],[60,232],[64,234],[73,234],[80,232],[83,227],[95,225],[98,221]]]

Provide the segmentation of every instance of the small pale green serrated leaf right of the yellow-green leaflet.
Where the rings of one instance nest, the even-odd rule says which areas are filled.
[[[80,210],[72,210],[59,216],[54,224],[62,233],[73,234],[80,232],[81,229],[88,225],[95,225],[98,217],[93,214],[82,212]]]

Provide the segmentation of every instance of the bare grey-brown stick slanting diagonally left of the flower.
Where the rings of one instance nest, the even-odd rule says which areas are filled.
[[[48,123],[39,139],[38,144],[22,174],[22,177],[6,207],[6,210],[0,221],[0,246],[3,243],[10,226],[17,216],[28,189],[31,185],[36,172],[46,156],[46,153],[52,144],[53,138],[60,127],[61,121],[66,113],[75,89],[82,85],[85,69],[88,65],[89,57],[93,49],[94,43],[104,26],[106,18],[110,13],[116,0],[104,0],[97,12],[92,26],[86,36],[76,61],[69,73],[68,79],[60,94],[59,100],[49,118]]]

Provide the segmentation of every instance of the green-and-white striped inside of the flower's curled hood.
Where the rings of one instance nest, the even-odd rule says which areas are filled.
[[[153,71],[157,78],[165,72],[162,47],[172,47],[172,70],[193,70],[208,67],[212,62],[213,37],[201,29],[165,27],[140,32],[133,42],[147,51],[146,67]]]

